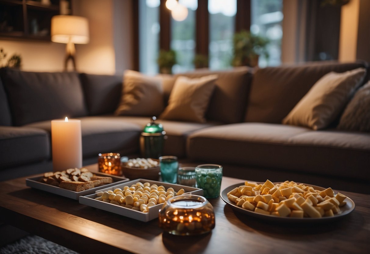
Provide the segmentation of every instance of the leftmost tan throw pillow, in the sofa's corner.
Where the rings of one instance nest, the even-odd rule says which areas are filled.
[[[120,104],[120,116],[159,116],[164,109],[162,79],[138,71],[126,70]]]

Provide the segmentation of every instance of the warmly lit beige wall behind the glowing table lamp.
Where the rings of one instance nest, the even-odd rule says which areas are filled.
[[[76,45],[77,70],[114,74],[132,68],[131,1],[74,0],[72,6],[73,14],[87,17],[90,26],[90,42]],[[114,29],[119,31],[115,33]],[[63,71],[65,44],[0,40],[0,48],[8,56],[20,54],[24,71]],[[119,61],[116,61],[116,54]]]

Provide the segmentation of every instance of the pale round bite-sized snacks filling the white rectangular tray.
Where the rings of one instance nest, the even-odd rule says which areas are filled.
[[[184,192],[184,189],[176,192],[172,187],[166,190],[162,185],[138,182],[131,187],[124,186],[123,190],[116,188],[114,191],[100,191],[95,199],[148,213],[149,207],[162,204],[169,198],[182,195]]]

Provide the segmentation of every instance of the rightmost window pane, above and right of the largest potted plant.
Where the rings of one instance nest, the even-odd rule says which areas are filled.
[[[260,67],[280,65],[281,39],[283,37],[283,0],[252,0],[250,31],[270,40],[269,58],[261,56]]]

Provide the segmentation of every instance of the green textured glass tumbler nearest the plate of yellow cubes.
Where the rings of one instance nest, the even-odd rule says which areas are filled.
[[[202,164],[195,167],[196,183],[202,188],[205,198],[216,198],[220,195],[222,166]]]

